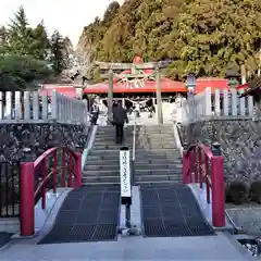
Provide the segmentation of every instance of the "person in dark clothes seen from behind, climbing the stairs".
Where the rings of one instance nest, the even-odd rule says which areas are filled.
[[[121,103],[117,103],[113,109],[113,125],[115,126],[116,144],[123,142],[123,127],[125,122],[128,123],[127,111]]]

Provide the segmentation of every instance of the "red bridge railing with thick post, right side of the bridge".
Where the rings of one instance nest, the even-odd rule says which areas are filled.
[[[225,226],[224,159],[220,145],[213,144],[213,151],[203,145],[192,145],[183,154],[183,183],[206,183],[207,202],[212,203],[212,224]]]

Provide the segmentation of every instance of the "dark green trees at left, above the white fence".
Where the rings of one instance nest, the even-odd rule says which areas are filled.
[[[29,27],[20,7],[8,27],[0,27],[0,89],[37,87],[38,82],[61,73],[69,67],[70,45],[59,32],[49,39],[44,21]]]

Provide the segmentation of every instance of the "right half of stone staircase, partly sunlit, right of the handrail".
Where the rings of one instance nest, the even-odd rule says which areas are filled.
[[[182,158],[172,125],[137,126],[135,184],[182,183]]]

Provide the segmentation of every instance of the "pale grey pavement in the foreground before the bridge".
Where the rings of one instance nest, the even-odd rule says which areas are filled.
[[[250,257],[249,257],[250,258]],[[36,245],[14,241],[0,252],[1,261],[108,260],[250,260],[223,234],[208,237],[119,238],[111,243]]]

